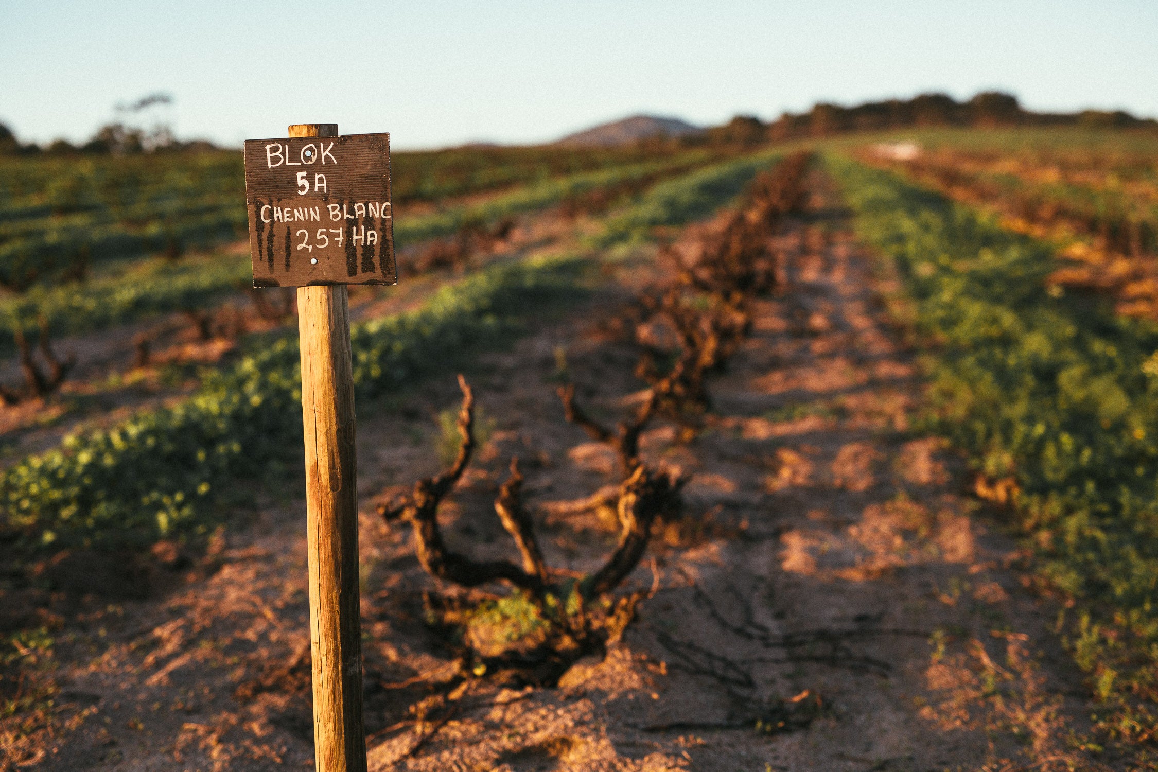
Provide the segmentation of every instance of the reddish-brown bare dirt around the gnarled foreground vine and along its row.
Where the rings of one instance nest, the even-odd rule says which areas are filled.
[[[631,579],[651,596],[606,657],[557,688],[484,675],[450,693],[453,654],[424,623],[435,582],[409,532],[374,515],[384,486],[439,468],[453,377],[362,413],[372,770],[1101,769],[1073,748],[1084,711],[1050,642],[1056,609],[1027,589],[959,459],[913,428],[921,378],[887,322],[887,277],[824,182],[812,185],[812,214],[778,243],[789,289],[758,302],[711,382],[708,427],[645,436],[647,458],[692,475],[683,520]],[[549,564],[584,571],[614,545],[594,515],[544,514],[614,477],[555,388],[572,378],[604,417],[631,404],[635,353],[601,330],[652,266],[621,269],[616,288],[468,373],[488,438],[444,508],[459,549],[513,554],[490,503],[511,455]],[[67,721],[29,769],[312,766],[302,512],[270,503],[163,597],[68,623],[56,671]]]

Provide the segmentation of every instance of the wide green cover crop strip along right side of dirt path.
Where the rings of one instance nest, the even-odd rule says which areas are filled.
[[[926,344],[936,427],[1016,483],[1102,727],[1151,737],[1158,699],[1158,326],[1060,295],[1050,248],[897,177],[827,160]]]

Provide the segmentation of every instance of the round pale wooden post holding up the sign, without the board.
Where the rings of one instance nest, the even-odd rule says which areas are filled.
[[[290,137],[337,135],[336,124],[290,126]],[[365,772],[354,391],[345,285],[298,287],[298,324],[315,769]]]

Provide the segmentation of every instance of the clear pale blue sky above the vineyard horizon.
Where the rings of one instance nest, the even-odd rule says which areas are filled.
[[[0,0],[0,122],[41,142],[157,90],[178,135],[227,145],[312,122],[396,148],[538,142],[928,90],[1156,116],[1158,1]]]

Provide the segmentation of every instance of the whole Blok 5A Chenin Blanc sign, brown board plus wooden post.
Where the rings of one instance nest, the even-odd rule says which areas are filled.
[[[245,142],[254,286],[298,287],[314,769],[366,772],[347,284],[397,284],[390,137],[293,124]]]

